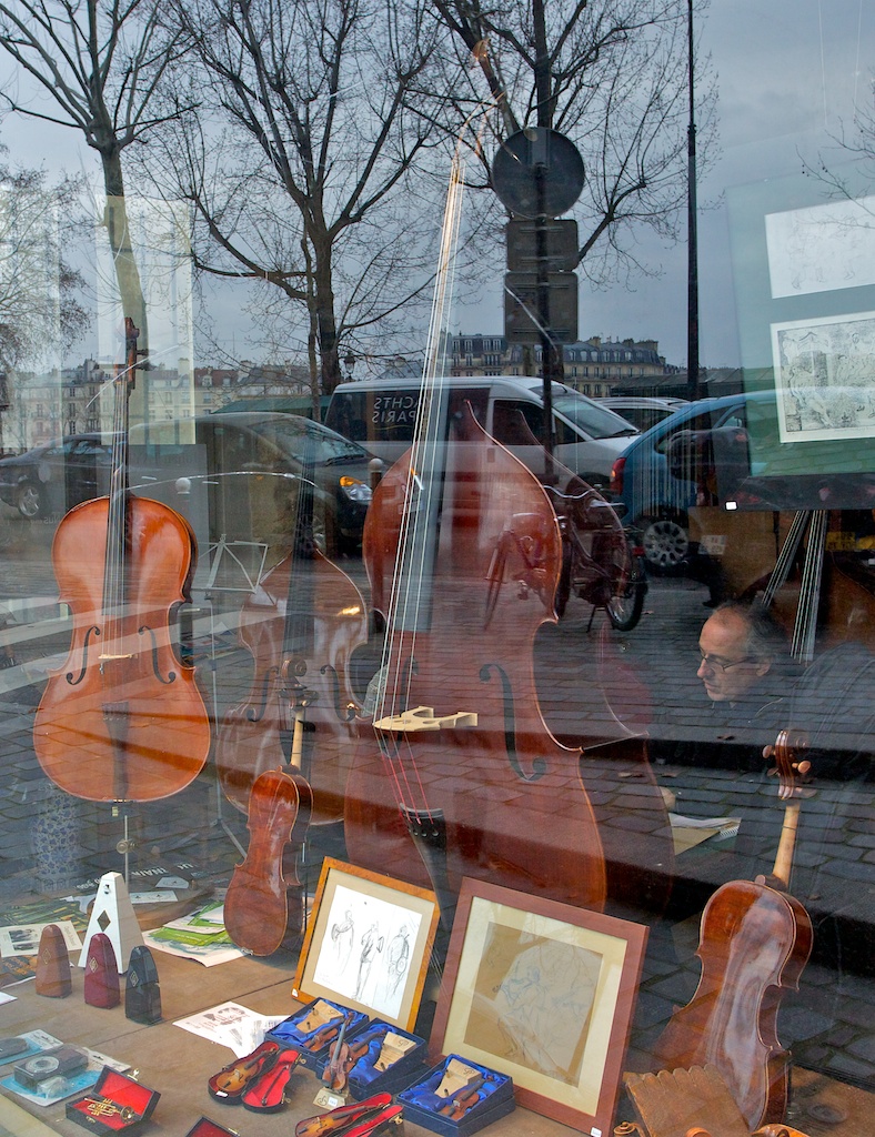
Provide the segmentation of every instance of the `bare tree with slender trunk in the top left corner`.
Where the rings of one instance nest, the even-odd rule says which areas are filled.
[[[0,48],[24,82],[0,99],[14,111],[82,133],[100,155],[105,224],[125,315],[147,346],[147,312],[125,208],[122,155],[161,122],[156,85],[176,58],[156,0],[20,0],[0,3]],[[17,88],[48,92],[55,111]],[[175,113],[175,111],[174,111]]]

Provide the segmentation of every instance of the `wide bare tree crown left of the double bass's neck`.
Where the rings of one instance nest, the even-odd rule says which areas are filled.
[[[440,215],[414,173],[435,131],[407,97],[425,84],[434,22],[417,0],[178,0],[173,10],[206,73],[189,80],[214,117],[165,132],[167,160],[152,165],[177,176],[193,207],[199,267],[267,285],[285,309],[272,318],[289,301],[303,308],[328,393],[342,348],[385,334],[427,282]]]

